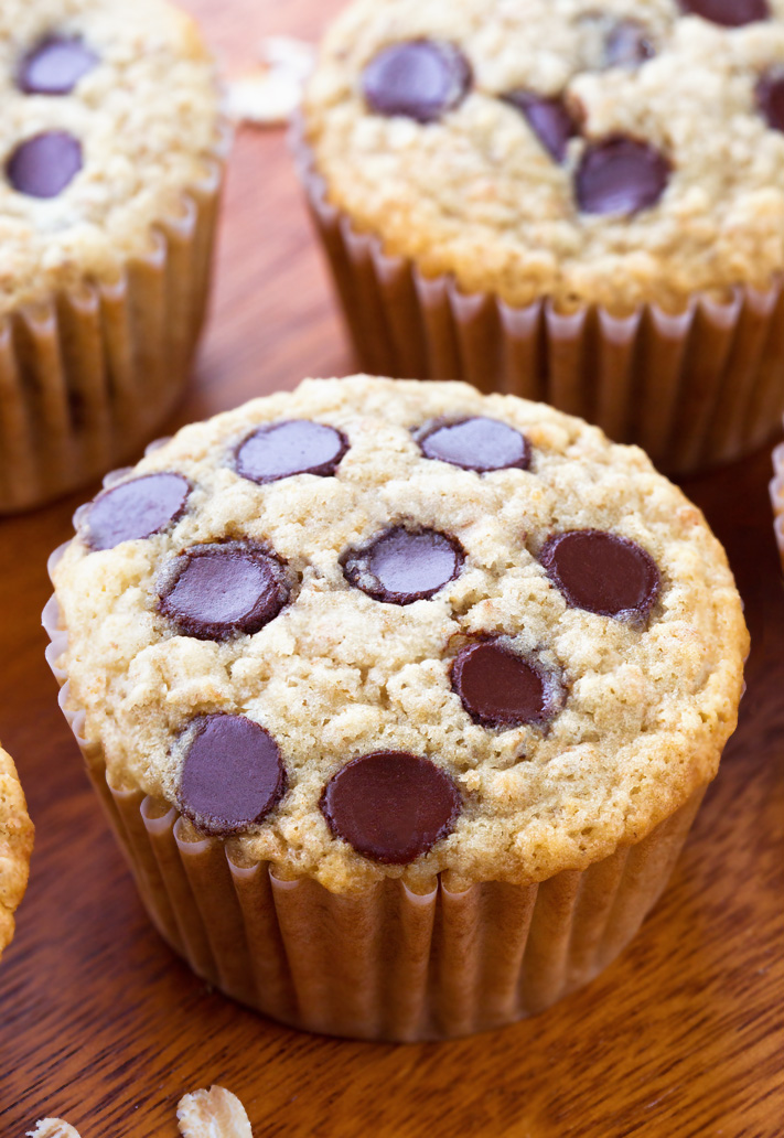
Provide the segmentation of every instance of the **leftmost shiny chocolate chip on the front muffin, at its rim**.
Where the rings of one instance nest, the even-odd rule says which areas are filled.
[[[84,542],[113,550],[121,542],[151,537],[185,512],[190,483],[182,475],[142,475],[105,490],[85,511]]]

